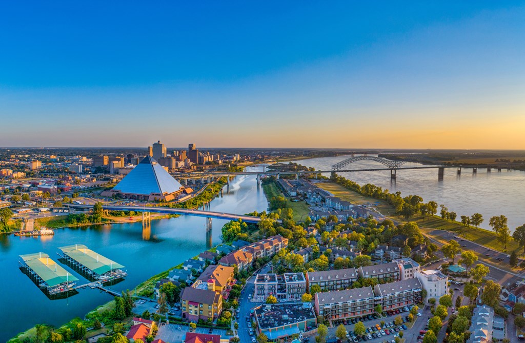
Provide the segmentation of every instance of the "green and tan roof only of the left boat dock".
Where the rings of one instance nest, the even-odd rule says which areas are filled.
[[[78,278],[68,273],[66,269],[49,258],[48,254],[35,253],[20,255],[20,257],[49,287],[57,286],[67,281],[78,281]]]

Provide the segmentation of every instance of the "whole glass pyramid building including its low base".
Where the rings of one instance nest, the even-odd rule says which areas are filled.
[[[146,156],[113,189],[103,192],[102,195],[118,194],[127,199],[171,201],[182,191],[183,185],[151,156]]]

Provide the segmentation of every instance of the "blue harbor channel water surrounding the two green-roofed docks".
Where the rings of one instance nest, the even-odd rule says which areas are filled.
[[[251,169],[257,170],[257,169]],[[239,176],[224,188],[223,198],[214,199],[209,209],[225,213],[264,211],[268,203],[255,176]],[[213,244],[220,243],[224,220],[213,219]],[[148,239],[149,236],[149,239]],[[81,289],[69,299],[49,300],[40,289],[18,269],[18,255],[44,252],[57,261],[57,247],[85,244],[92,250],[126,266],[128,277],[112,286],[133,289],[143,280],[180,264],[186,258],[206,250],[205,218],[181,216],[154,220],[151,232],[143,233],[141,223],[93,225],[85,228],[57,230],[55,236],[41,238],[0,235],[0,342],[38,323],[59,326],[74,317],[83,317],[112,296],[96,289]],[[71,268],[62,265],[69,272]],[[86,279],[73,272],[79,283]]]

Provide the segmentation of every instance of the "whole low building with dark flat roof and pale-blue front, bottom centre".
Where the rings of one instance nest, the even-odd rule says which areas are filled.
[[[257,331],[272,341],[287,339],[317,326],[310,303],[263,304],[254,308]]]

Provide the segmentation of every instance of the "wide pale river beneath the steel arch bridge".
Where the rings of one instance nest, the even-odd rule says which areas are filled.
[[[349,157],[349,156],[348,156]],[[337,162],[348,158],[344,156],[318,158],[297,161],[307,167],[319,170],[330,170]],[[417,166],[419,163],[405,163],[403,167]],[[378,168],[382,164],[374,161],[359,161],[349,164],[349,169]],[[525,172],[506,170],[497,172],[478,169],[472,174],[472,169],[463,169],[461,176],[456,169],[445,169],[443,181],[437,180],[437,169],[398,170],[395,183],[390,181],[390,171],[370,171],[339,173],[347,179],[360,185],[372,183],[394,193],[400,191],[403,195],[419,195],[424,201],[434,200],[445,204],[449,211],[458,215],[481,213],[485,221],[481,227],[489,227],[489,218],[494,215],[506,215],[511,231],[525,223]],[[329,176],[329,175],[325,175]]]

